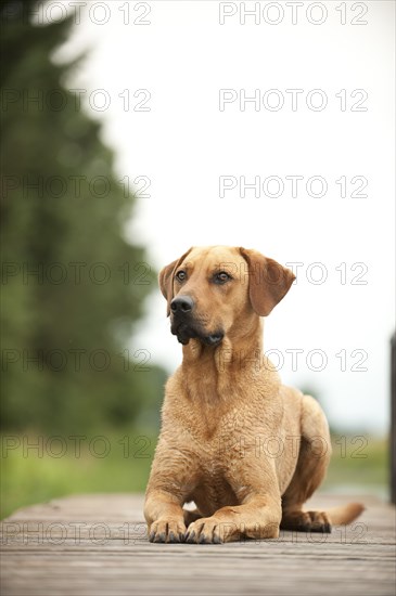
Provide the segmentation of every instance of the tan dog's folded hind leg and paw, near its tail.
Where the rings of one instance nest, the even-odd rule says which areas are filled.
[[[330,532],[325,511],[303,511],[304,503],[322,482],[331,456],[329,425],[318,402],[304,396],[301,420],[302,442],[297,466],[282,496],[281,528]]]

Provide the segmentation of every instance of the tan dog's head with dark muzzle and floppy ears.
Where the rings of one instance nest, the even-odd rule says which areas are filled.
[[[246,333],[252,316],[267,316],[289,291],[294,274],[256,250],[228,246],[190,248],[159,273],[171,333],[217,346]]]

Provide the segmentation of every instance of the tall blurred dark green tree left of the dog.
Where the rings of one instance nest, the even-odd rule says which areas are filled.
[[[164,371],[126,350],[154,272],[101,125],[64,86],[77,61],[51,60],[71,17],[38,26],[36,7],[1,3],[2,426],[87,431],[161,399]]]

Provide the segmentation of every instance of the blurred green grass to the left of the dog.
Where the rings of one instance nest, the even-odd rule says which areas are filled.
[[[156,437],[114,431],[80,441],[13,435],[2,437],[1,518],[53,497],[90,492],[143,492]],[[29,445],[39,444],[39,448]],[[65,451],[62,454],[63,451]],[[65,449],[66,448],[66,449]]]

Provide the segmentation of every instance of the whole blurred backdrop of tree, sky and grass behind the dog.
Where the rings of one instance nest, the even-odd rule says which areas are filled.
[[[221,24],[220,4],[1,4],[2,516],[144,490],[181,358],[156,275],[204,244],[298,263],[265,347],[329,416],[323,490],[387,497],[394,5],[366,2],[354,27],[348,3],[343,16],[324,2],[320,26],[304,3],[301,21],[274,27],[263,13],[241,25],[240,2]],[[219,109],[219,89],[257,88],[322,89],[329,108]],[[350,111],[356,89],[367,113]],[[221,196],[221,177],[257,176],[320,176],[329,189]]]

